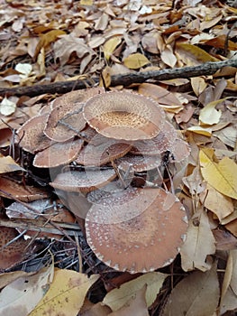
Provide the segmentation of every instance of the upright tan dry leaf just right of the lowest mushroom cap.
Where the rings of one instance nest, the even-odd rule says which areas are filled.
[[[206,256],[215,253],[215,240],[206,212],[201,211],[198,218],[198,223],[194,220],[195,218],[190,220],[187,239],[181,246],[182,268],[185,271],[195,268],[201,271],[210,269],[211,265],[206,262]]]

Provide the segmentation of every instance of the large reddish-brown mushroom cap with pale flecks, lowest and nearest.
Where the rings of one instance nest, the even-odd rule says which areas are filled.
[[[130,190],[130,189],[129,189]],[[135,192],[134,192],[135,190]],[[132,189],[93,204],[86,218],[87,242],[96,256],[132,274],[169,265],[187,232],[185,209],[163,189]]]

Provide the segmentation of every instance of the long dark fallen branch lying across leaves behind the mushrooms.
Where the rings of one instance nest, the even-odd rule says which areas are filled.
[[[111,87],[123,85],[128,87],[132,83],[142,83],[148,79],[169,80],[176,78],[192,78],[204,75],[213,75],[217,70],[223,67],[237,68],[237,60],[225,60],[217,62],[206,62],[202,65],[194,67],[176,68],[173,70],[154,70],[140,71],[121,75],[115,75],[111,78]],[[94,82],[95,85],[99,82],[99,78],[80,79],[72,81],[59,81],[47,85],[34,85],[32,87],[17,87],[17,88],[0,88],[0,96],[29,96],[35,97],[44,93],[59,93],[63,94],[71,90],[87,88]]]

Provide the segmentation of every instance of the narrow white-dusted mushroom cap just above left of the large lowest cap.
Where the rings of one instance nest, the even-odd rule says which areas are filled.
[[[95,171],[72,171],[59,173],[50,185],[59,190],[69,192],[89,192],[103,187],[108,182],[114,180],[116,173],[114,169]]]

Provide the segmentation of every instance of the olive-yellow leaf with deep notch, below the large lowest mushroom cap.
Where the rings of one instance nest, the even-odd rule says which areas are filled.
[[[160,272],[143,274],[132,281],[123,283],[120,288],[107,293],[103,303],[109,306],[112,311],[117,311],[147,284],[146,302],[149,307],[155,301],[167,276],[168,274],[161,274]]]

